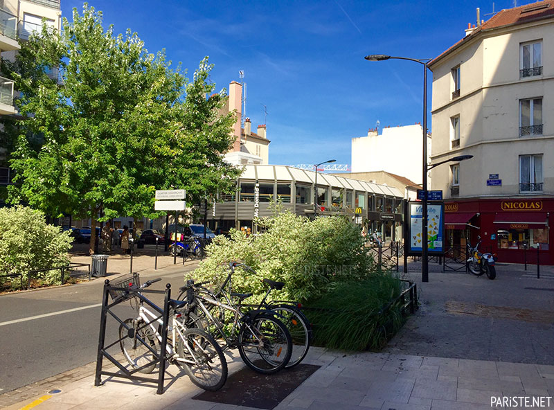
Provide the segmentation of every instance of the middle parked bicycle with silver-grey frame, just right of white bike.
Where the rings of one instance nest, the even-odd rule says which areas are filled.
[[[188,280],[179,297],[188,305],[186,323],[207,330],[223,341],[222,349],[237,348],[244,364],[253,371],[272,374],[284,368],[292,355],[292,339],[285,325],[270,310],[242,312],[242,301],[252,294],[224,294],[225,302],[202,287],[206,283]],[[233,303],[231,298],[237,298]],[[224,314],[231,312],[231,329],[225,330]]]

